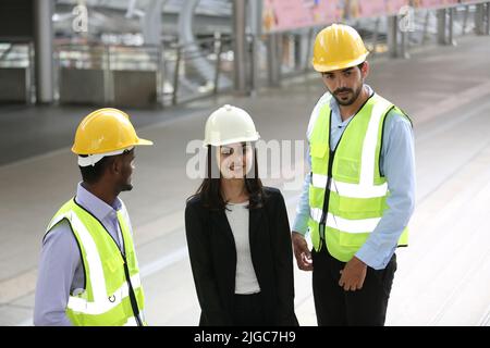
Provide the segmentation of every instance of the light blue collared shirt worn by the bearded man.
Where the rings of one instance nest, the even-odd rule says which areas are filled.
[[[367,87],[371,95],[373,92],[372,88]],[[339,105],[334,98],[330,100],[330,108],[332,110],[330,147],[334,149],[353,116],[342,121]],[[311,166],[309,148],[307,160],[309,166]],[[381,270],[387,266],[415,208],[414,134],[409,122],[394,110],[389,112],[384,122],[380,167],[381,174],[387,178],[388,189],[390,190],[390,196],[387,198],[389,209],[385,210],[375,231],[356,252],[358,259],[375,270]],[[293,224],[293,231],[303,235],[308,229],[309,184],[310,175],[308,173],[303,184],[303,192],[296,207],[296,219]]]

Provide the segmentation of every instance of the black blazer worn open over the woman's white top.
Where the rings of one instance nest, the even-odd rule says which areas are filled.
[[[249,210],[252,262],[267,323],[297,325],[294,314],[293,251],[284,198],[265,187],[262,208]],[[199,325],[233,325],[236,249],[223,210],[203,207],[198,197],[185,208],[185,233],[201,314]]]

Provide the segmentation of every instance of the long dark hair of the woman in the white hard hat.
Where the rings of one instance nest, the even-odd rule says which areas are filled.
[[[210,210],[224,210],[226,209],[228,202],[221,195],[221,171],[219,171],[220,177],[212,177],[212,162],[211,146],[208,145],[206,178],[200,184],[196,194],[191,196],[188,199],[199,197],[205,208]],[[264,207],[264,203],[267,199],[262,182],[258,177],[257,149],[254,149],[254,177],[247,177],[246,174],[244,175],[245,189],[248,194],[248,209],[257,209]]]

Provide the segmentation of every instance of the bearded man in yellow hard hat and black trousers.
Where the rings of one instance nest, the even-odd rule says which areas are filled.
[[[319,325],[384,324],[394,251],[407,245],[415,204],[412,123],[365,84],[367,55],[347,25],[317,35],[313,65],[328,91],[308,125],[311,172],[292,239],[298,268],[313,271]]]

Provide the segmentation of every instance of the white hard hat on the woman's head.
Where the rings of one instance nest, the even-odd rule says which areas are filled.
[[[208,117],[204,146],[256,141],[259,138],[250,115],[243,109],[226,104]]]

